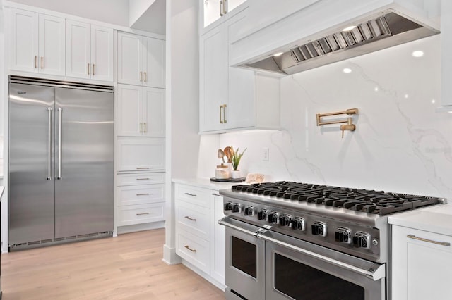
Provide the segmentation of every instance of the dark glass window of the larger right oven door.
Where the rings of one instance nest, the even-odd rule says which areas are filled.
[[[364,300],[364,288],[275,253],[275,289],[293,299]]]

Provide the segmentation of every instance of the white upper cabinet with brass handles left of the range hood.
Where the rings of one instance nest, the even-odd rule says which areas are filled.
[[[237,35],[244,21],[246,9],[201,36],[201,133],[279,127],[279,79],[256,77],[253,70],[230,67],[229,41]],[[265,82],[265,93],[256,88],[261,87],[260,82]],[[259,109],[263,100],[265,110]],[[265,119],[264,114],[260,114],[263,111],[267,111]]]

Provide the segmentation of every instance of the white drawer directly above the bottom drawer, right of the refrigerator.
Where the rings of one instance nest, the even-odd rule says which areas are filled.
[[[118,206],[163,202],[164,185],[117,187]]]

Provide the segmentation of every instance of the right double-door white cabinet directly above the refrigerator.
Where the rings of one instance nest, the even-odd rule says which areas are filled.
[[[113,81],[113,29],[67,20],[66,76]]]

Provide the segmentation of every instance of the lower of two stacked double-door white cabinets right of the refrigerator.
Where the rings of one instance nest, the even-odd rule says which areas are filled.
[[[165,137],[165,89],[118,85],[117,135]]]

